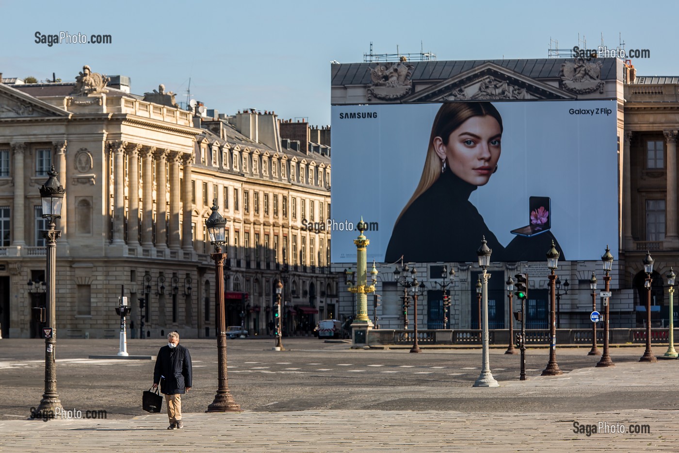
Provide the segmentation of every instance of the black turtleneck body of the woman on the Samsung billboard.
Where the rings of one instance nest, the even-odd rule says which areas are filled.
[[[476,262],[485,236],[492,260],[504,260],[504,247],[469,201],[477,186],[449,169],[416,199],[394,225],[384,261]]]

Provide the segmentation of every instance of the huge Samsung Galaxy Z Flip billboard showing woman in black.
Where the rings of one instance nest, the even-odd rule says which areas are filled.
[[[617,250],[615,101],[333,105],[333,263],[599,260]]]

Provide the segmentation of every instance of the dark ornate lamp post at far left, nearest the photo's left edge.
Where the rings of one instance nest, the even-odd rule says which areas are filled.
[[[40,188],[42,199],[43,218],[48,219],[49,227],[43,231],[43,237],[47,244],[47,329],[45,333],[45,393],[40,400],[38,412],[42,414],[54,414],[56,408],[61,408],[61,401],[56,392],[56,362],[54,360],[56,349],[56,239],[61,236],[61,231],[56,229],[56,219],[61,218],[61,207],[66,190],[56,180],[58,173],[54,165],[48,172],[50,177]],[[48,335],[49,334],[49,335]]]

